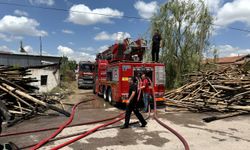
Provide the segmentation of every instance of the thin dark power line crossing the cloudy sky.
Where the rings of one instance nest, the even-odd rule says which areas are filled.
[[[75,11],[75,10],[64,9],[64,8],[43,7],[43,6],[25,5],[25,4],[8,3],[8,2],[0,2],[0,4],[2,4],[2,5],[9,5],[9,6],[26,7],[26,8],[46,9],[46,10],[53,10],[53,11],[76,12],[76,13],[82,13],[82,14],[92,14],[92,15],[114,17],[114,18],[127,18],[127,19],[137,19],[137,20],[147,20],[147,21],[150,21],[150,19],[147,19],[147,18],[135,17],[135,16],[127,16],[127,15],[125,15],[125,16],[117,16],[117,15],[109,15],[109,14],[86,12],[86,11]],[[241,28],[236,28],[236,27],[231,27],[231,26],[223,26],[223,25],[218,25],[218,24],[214,24],[214,23],[211,23],[211,25],[218,26],[218,27],[224,27],[224,28],[228,28],[228,29],[236,30],[236,31],[240,31],[240,32],[250,33],[250,30],[247,30],[247,29],[241,29]]]

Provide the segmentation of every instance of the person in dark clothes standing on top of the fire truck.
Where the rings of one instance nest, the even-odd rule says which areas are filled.
[[[160,43],[161,43],[161,35],[159,33],[159,30],[156,30],[152,38],[152,61],[153,62],[159,61]]]

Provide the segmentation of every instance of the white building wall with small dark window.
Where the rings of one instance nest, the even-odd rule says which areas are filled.
[[[55,72],[55,69],[29,69],[30,74],[27,77],[36,78],[38,82],[33,82],[31,85],[39,88],[38,92],[50,92],[60,83],[60,73],[59,70]],[[41,85],[41,76],[47,75],[47,85]]]

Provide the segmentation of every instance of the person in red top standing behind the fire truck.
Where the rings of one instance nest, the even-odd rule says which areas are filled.
[[[150,98],[149,81],[145,73],[142,73],[141,78],[142,78],[141,90],[143,94],[144,112],[148,112],[149,98]]]

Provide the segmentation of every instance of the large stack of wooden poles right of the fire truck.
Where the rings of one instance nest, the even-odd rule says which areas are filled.
[[[187,76],[187,84],[165,94],[168,106],[182,107],[194,112],[223,113],[220,116],[204,118],[206,122],[250,112],[248,71],[237,66],[228,66]]]

